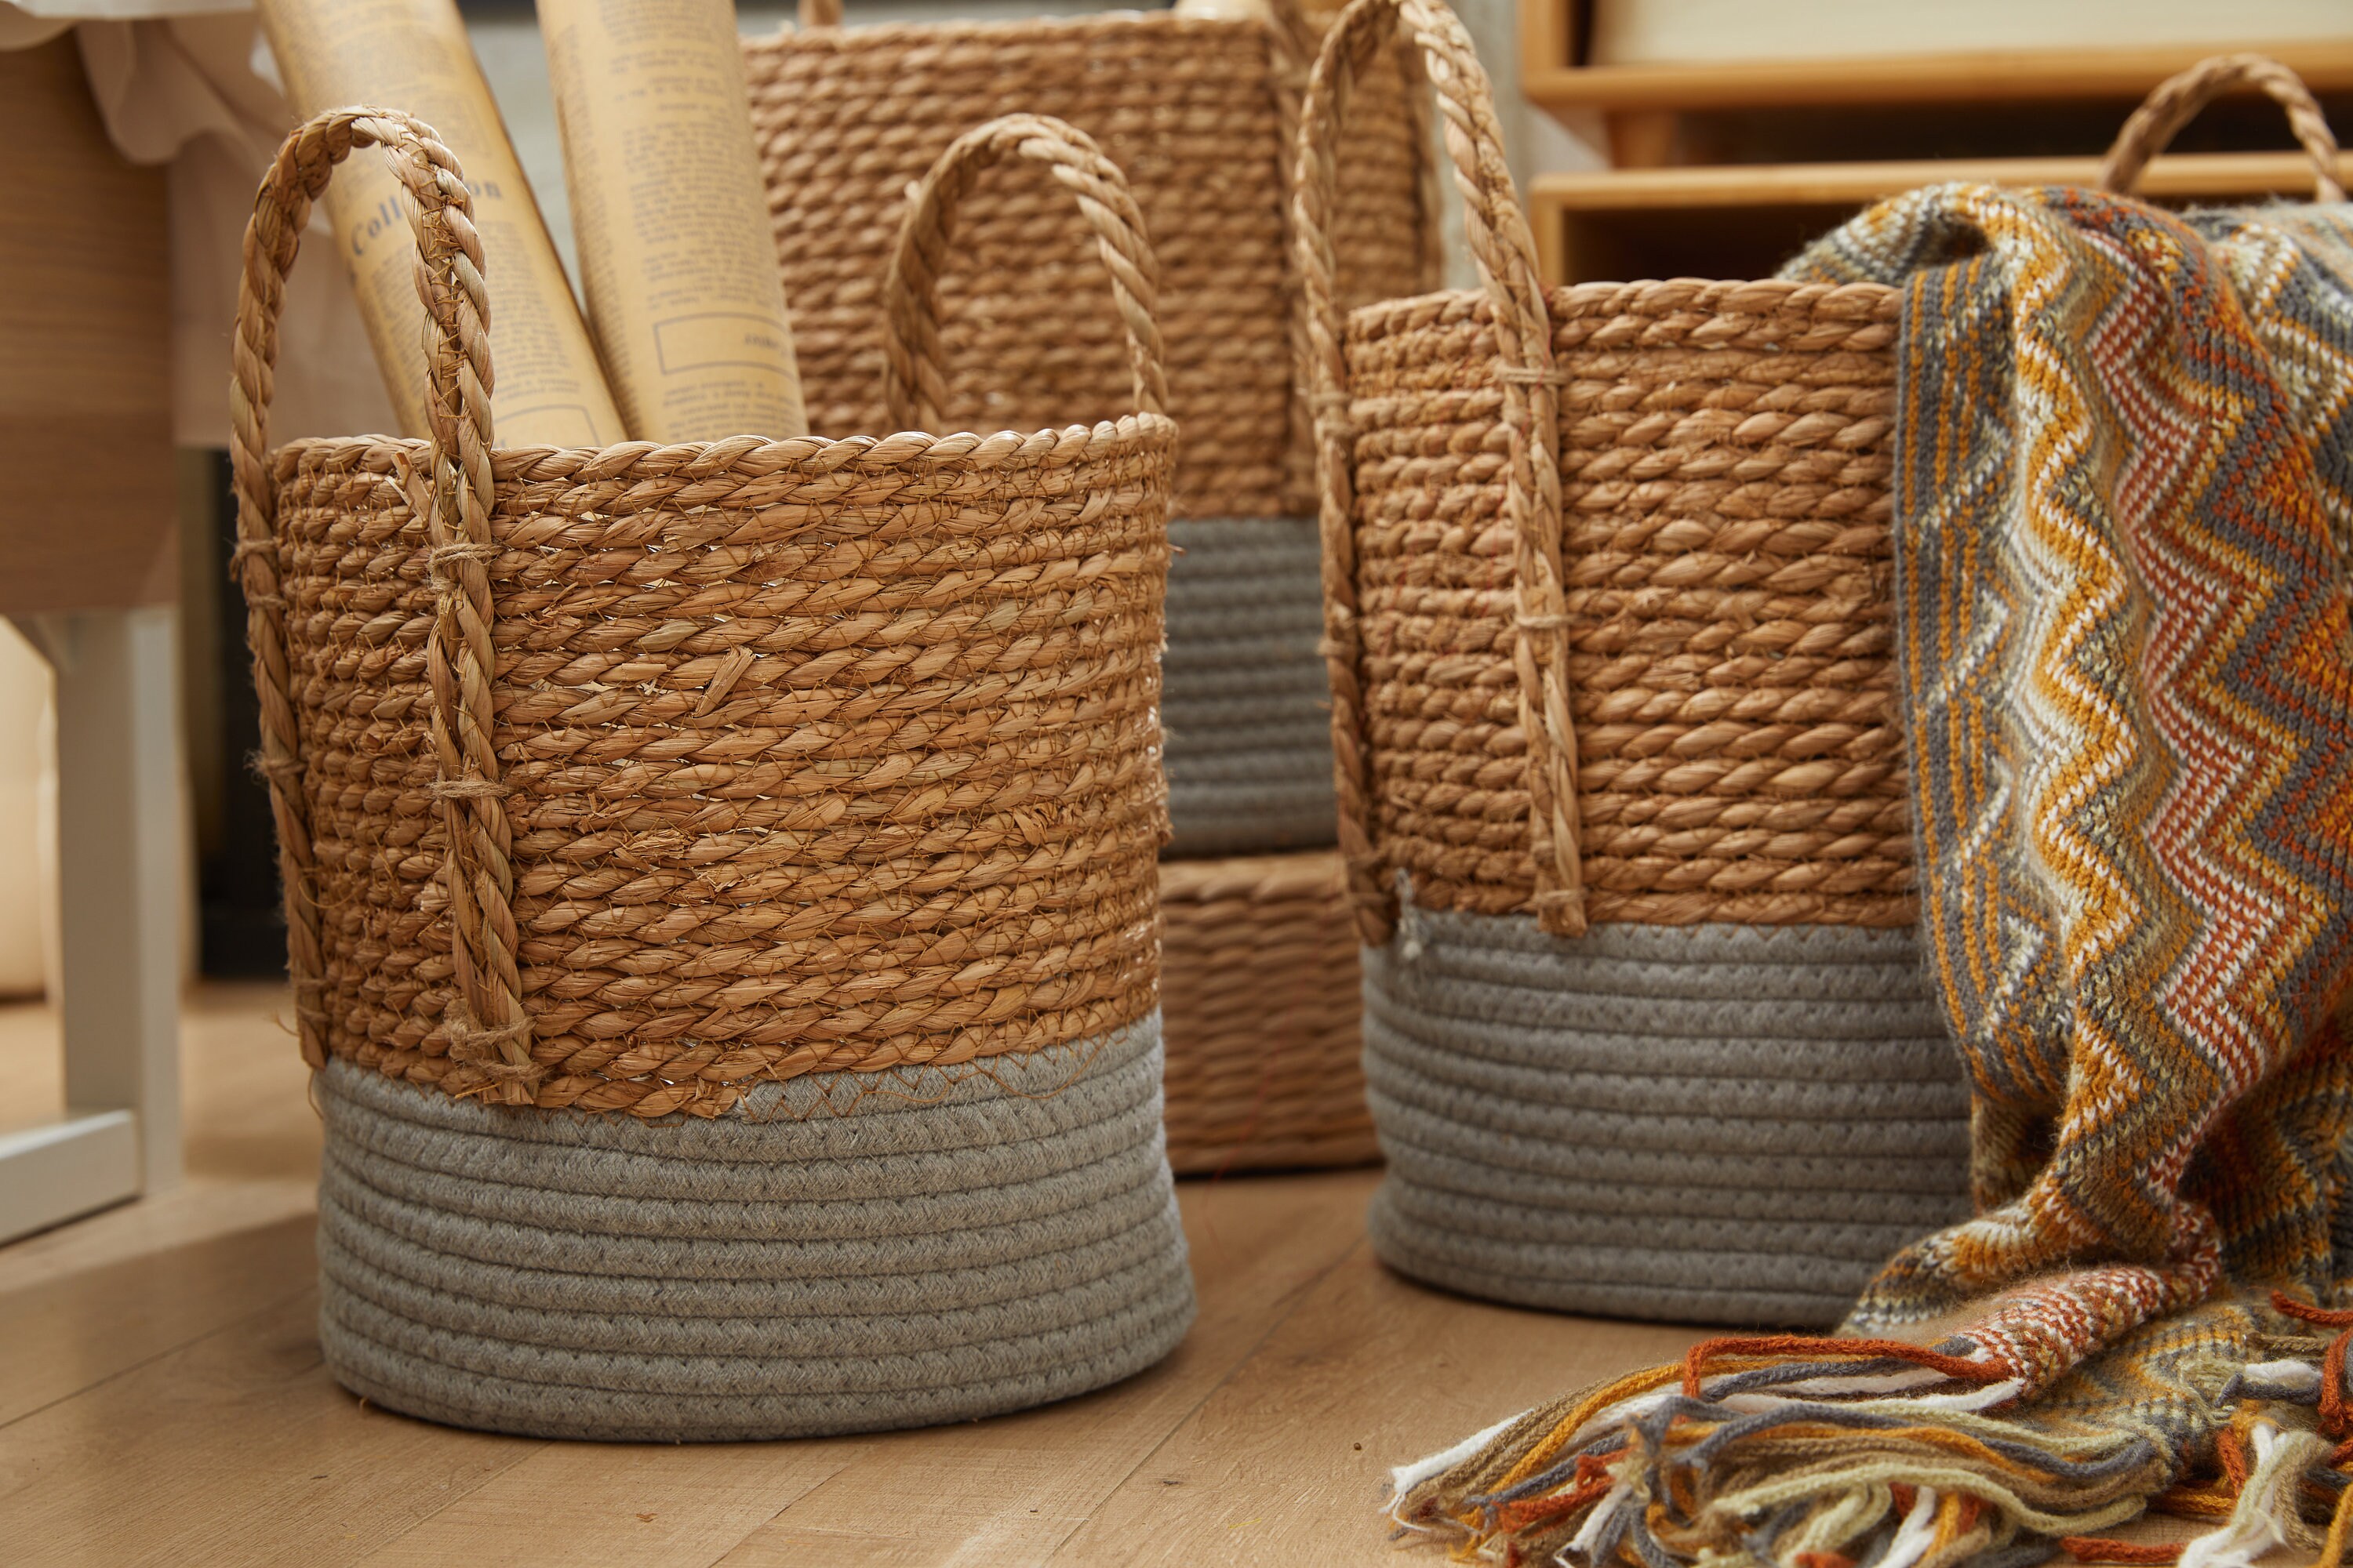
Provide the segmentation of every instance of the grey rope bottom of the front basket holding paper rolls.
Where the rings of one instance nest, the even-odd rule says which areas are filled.
[[[972,1420],[1193,1319],[1158,1016],[976,1070],[816,1074],[624,1121],[318,1077],[320,1342],[393,1410],[729,1441]]]

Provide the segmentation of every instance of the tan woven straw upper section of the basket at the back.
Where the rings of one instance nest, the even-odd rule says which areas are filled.
[[[1047,113],[1127,174],[1160,256],[1174,512],[1313,512],[1292,400],[1287,132],[1271,31],[1174,14],[814,28],[746,42],[776,254],[819,435],[887,428],[878,294],[908,181],[972,125]],[[1297,75],[1304,82],[1304,71]],[[1433,287],[1421,129],[1381,61],[1353,108],[1339,254],[1351,299]],[[1033,165],[1000,167],[941,277],[946,428],[1031,430],[1127,409],[1094,244]]]

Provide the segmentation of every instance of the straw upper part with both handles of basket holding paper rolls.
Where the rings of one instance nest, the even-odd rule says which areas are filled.
[[[268,449],[285,273],[353,146],[416,202],[433,437]],[[1068,127],[918,188],[894,423],[979,169],[1078,197],[1141,411],[1031,435],[496,449],[482,252],[426,127],[296,132],[247,233],[238,559],[308,1063],[713,1117],[758,1079],[953,1067],[1155,1004],[1174,425],[1153,263]]]

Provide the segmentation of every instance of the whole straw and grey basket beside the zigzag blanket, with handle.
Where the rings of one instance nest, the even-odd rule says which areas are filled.
[[[1400,24],[1482,287],[1344,317],[1334,155]],[[1897,294],[1546,294],[1435,0],[1341,16],[1297,207],[1374,1246],[1511,1302],[1835,1321],[1967,1213],[1892,705]]]

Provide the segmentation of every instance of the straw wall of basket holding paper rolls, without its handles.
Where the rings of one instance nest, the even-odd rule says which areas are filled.
[[[1153,1009],[1167,440],[499,451],[492,741],[539,1105],[718,1114]],[[464,1093],[421,449],[278,451],[278,569],[327,1048]]]

